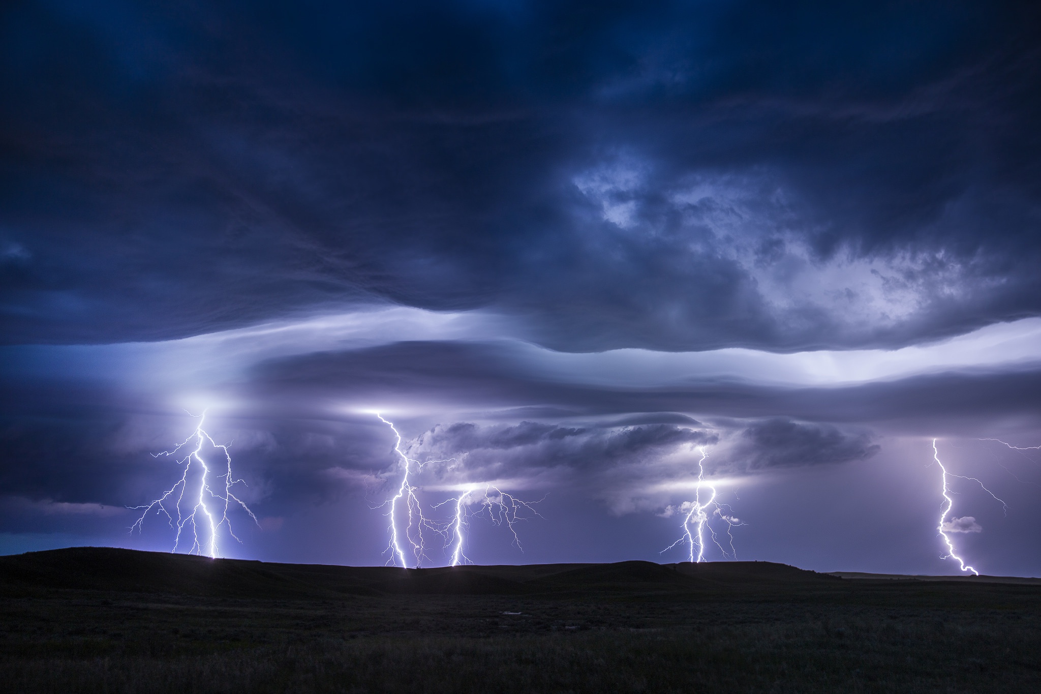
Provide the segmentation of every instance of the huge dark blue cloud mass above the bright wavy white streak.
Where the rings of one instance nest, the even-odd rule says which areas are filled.
[[[793,350],[1041,308],[1030,5],[2,12],[7,342],[389,301]]]

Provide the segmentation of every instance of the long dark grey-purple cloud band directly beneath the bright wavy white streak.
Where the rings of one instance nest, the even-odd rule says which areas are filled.
[[[422,404],[433,411],[509,408],[504,415],[531,417],[535,414],[513,408],[536,407],[550,408],[545,415],[555,419],[648,413],[662,423],[688,426],[696,423],[679,421],[677,417],[688,415],[675,413],[873,422],[902,431],[936,432],[1041,415],[1041,371],[1036,364],[843,387],[784,387],[718,378],[608,387],[548,378],[508,343],[399,342],[271,360],[259,365],[243,388],[259,402],[304,410],[396,402],[406,407]]]

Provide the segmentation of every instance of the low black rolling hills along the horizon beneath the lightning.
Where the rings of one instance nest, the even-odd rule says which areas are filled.
[[[577,592],[731,593],[839,579],[771,562],[531,564],[424,569],[211,560],[113,547],[0,557],[0,592],[72,589],[222,597],[520,595]]]

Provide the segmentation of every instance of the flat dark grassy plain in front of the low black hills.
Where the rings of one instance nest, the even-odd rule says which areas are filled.
[[[1033,593],[900,590],[794,600],[589,595],[339,602],[58,591],[3,601],[0,689],[1041,691]]]

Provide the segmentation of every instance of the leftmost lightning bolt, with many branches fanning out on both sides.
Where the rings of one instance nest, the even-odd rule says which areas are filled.
[[[206,421],[206,412],[204,411],[198,417],[199,422],[196,426],[195,431],[183,441],[177,444],[171,451],[163,451],[162,453],[152,454],[153,458],[161,457],[174,457],[177,454],[191,445],[195,444],[195,448],[192,449],[184,458],[177,461],[179,465],[184,466],[184,472],[181,474],[181,479],[178,480],[173,487],[168,489],[162,493],[161,496],[149,502],[143,506],[132,506],[132,509],[144,509],[141,517],[134,522],[130,528],[132,533],[134,529],[139,533],[142,530],[142,524],[145,521],[146,516],[153,509],[157,514],[164,514],[167,516],[170,525],[175,530],[174,537],[174,548],[173,551],[177,551],[178,546],[181,543],[181,533],[191,523],[192,525],[192,547],[188,549],[188,554],[203,554],[203,542],[199,538],[200,523],[204,526],[206,535],[206,551],[211,559],[220,557],[220,548],[218,547],[218,534],[222,526],[227,528],[228,535],[233,537],[236,541],[242,542],[238,537],[231,530],[231,519],[228,518],[228,511],[232,507],[232,502],[240,506],[246,513],[250,515],[253,522],[257,523],[257,518],[253,515],[253,511],[250,510],[246,504],[235,496],[231,488],[233,485],[242,483],[246,484],[243,480],[236,480],[231,472],[231,454],[228,453],[228,446],[226,444],[217,443],[206,430],[203,429],[203,425]],[[220,474],[214,474],[213,478],[222,481],[220,485],[214,487],[210,484],[210,466],[203,458],[203,446],[209,443],[209,445],[215,451],[220,449],[221,455],[224,457],[223,467],[224,471]],[[199,467],[199,482],[198,482],[198,494],[194,491],[188,497],[188,512],[182,512],[182,505],[185,502],[185,492],[188,489],[191,481],[188,480],[188,474],[192,471],[193,465],[198,465]],[[176,495],[176,496],[175,496]],[[209,502],[209,504],[207,503]],[[210,506],[214,508],[210,508]],[[170,508],[173,507],[173,508]],[[176,519],[174,515],[176,514]]]

